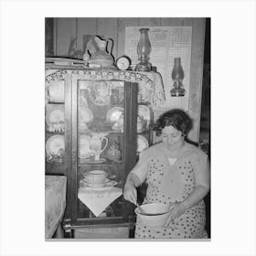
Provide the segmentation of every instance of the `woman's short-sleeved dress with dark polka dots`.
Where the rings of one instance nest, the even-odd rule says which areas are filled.
[[[208,156],[196,146],[185,144],[178,157],[171,158],[163,144],[155,144],[140,155],[138,165],[133,168],[141,182],[148,184],[145,203],[172,204],[187,198],[196,186],[195,170],[208,168]],[[166,227],[147,227],[137,218],[136,239],[205,239],[205,204],[197,205],[172,220]]]

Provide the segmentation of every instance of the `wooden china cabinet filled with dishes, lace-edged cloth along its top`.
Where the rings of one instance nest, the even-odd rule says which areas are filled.
[[[118,238],[133,230],[134,206],[123,199],[123,186],[153,143],[153,105],[162,95],[153,77],[46,66],[46,173],[67,176],[65,237]],[[86,182],[92,170],[107,173],[102,186]]]

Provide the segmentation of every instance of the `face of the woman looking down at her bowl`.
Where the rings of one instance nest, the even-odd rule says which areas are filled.
[[[162,129],[162,141],[167,144],[169,147],[176,148],[179,147],[184,142],[184,136],[182,133],[172,125],[165,126]]]

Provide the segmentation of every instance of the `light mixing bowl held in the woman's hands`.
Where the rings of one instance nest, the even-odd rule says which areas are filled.
[[[134,212],[146,226],[163,227],[170,215],[169,207],[162,203],[149,203],[135,208]]]

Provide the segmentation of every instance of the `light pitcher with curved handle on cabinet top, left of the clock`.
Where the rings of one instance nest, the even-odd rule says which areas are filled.
[[[113,47],[111,38],[104,40],[98,36],[93,37],[86,46],[83,60],[87,60],[90,64],[100,65],[101,68],[113,67],[114,59],[112,58],[112,47],[109,52],[107,52],[109,43],[111,43]]]

